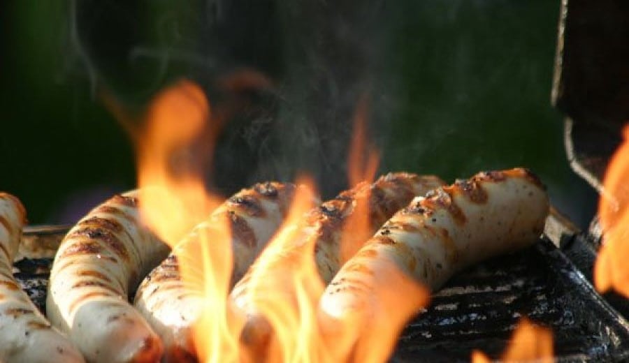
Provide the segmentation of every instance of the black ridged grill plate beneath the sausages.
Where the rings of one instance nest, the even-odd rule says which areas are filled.
[[[23,259],[15,276],[41,311],[52,260]],[[629,325],[547,239],[457,274],[400,337],[392,362],[469,362],[474,349],[500,357],[528,316],[553,330],[560,362],[626,361]]]

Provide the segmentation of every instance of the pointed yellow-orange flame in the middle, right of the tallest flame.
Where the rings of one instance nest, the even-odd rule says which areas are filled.
[[[275,237],[261,253],[250,280],[250,301],[263,316],[261,325],[273,332],[264,336],[263,351],[251,352],[250,360],[261,360],[264,355],[269,362],[320,362],[317,352],[317,325],[315,308],[324,286],[319,279],[314,254],[314,239],[303,239],[300,221],[315,200],[313,184],[302,177],[294,202],[286,221]],[[277,265],[277,256],[289,256]],[[286,263],[288,260],[289,263]],[[256,342],[255,348],[260,348]]]

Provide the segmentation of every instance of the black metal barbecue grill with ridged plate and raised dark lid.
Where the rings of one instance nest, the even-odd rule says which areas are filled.
[[[602,195],[601,179],[629,119],[629,3],[563,0],[553,102],[566,115],[570,165]],[[613,197],[613,196],[612,196]],[[24,233],[16,276],[45,311],[52,254],[65,226]],[[525,251],[458,274],[400,336],[393,362],[468,361],[474,349],[496,358],[522,316],[550,327],[560,362],[629,360],[629,304],[591,285],[604,232],[581,231],[553,211]]]

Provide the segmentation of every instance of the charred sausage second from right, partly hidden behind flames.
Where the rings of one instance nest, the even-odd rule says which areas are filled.
[[[299,256],[309,253],[306,241],[313,241],[315,245],[315,262],[321,279],[327,283],[342,262],[353,255],[373,233],[390,218],[398,209],[407,205],[415,195],[424,195],[427,191],[442,185],[438,177],[420,177],[404,172],[391,173],[380,177],[373,184],[362,182],[354,188],[340,193],[333,200],[324,202],[312,209],[298,227],[301,235],[296,237],[290,250],[282,251],[270,256],[271,261],[265,262],[265,281],[270,281],[273,291],[262,292],[259,295],[278,294],[291,299],[294,293],[290,290],[291,283],[283,282],[291,279],[291,268]],[[357,220],[352,214],[359,203],[368,205],[368,225],[365,230],[356,230],[353,225]],[[352,233],[343,236],[343,230]],[[345,239],[342,241],[342,239]],[[341,242],[344,246],[341,246]],[[348,250],[349,251],[344,251]],[[258,265],[254,263],[231,292],[231,299],[237,310],[246,316],[246,323],[241,339],[254,350],[264,348],[272,332],[268,322],[260,316],[256,309],[256,302],[252,301],[250,281],[256,273]],[[280,287],[280,290],[275,290]],[[260,287],[256,287],[258,290]],[[262,287],[265,289],[265,287]]]

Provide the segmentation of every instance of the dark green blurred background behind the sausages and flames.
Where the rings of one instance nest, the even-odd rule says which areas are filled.
[[[559,1],[13,1],[0,5],[0,189],[31,223],[68,223],[135,186],[103,94],[141,115],[180,77],[224,114],[208,185],[228,195],[310,170],[347,186],[359,99],[379,171],[526,166],[579,225],[595,195],[550,104]],[[273,82],[226,86],[243,70]],[[137,119],[141,119],[140,116]]]

